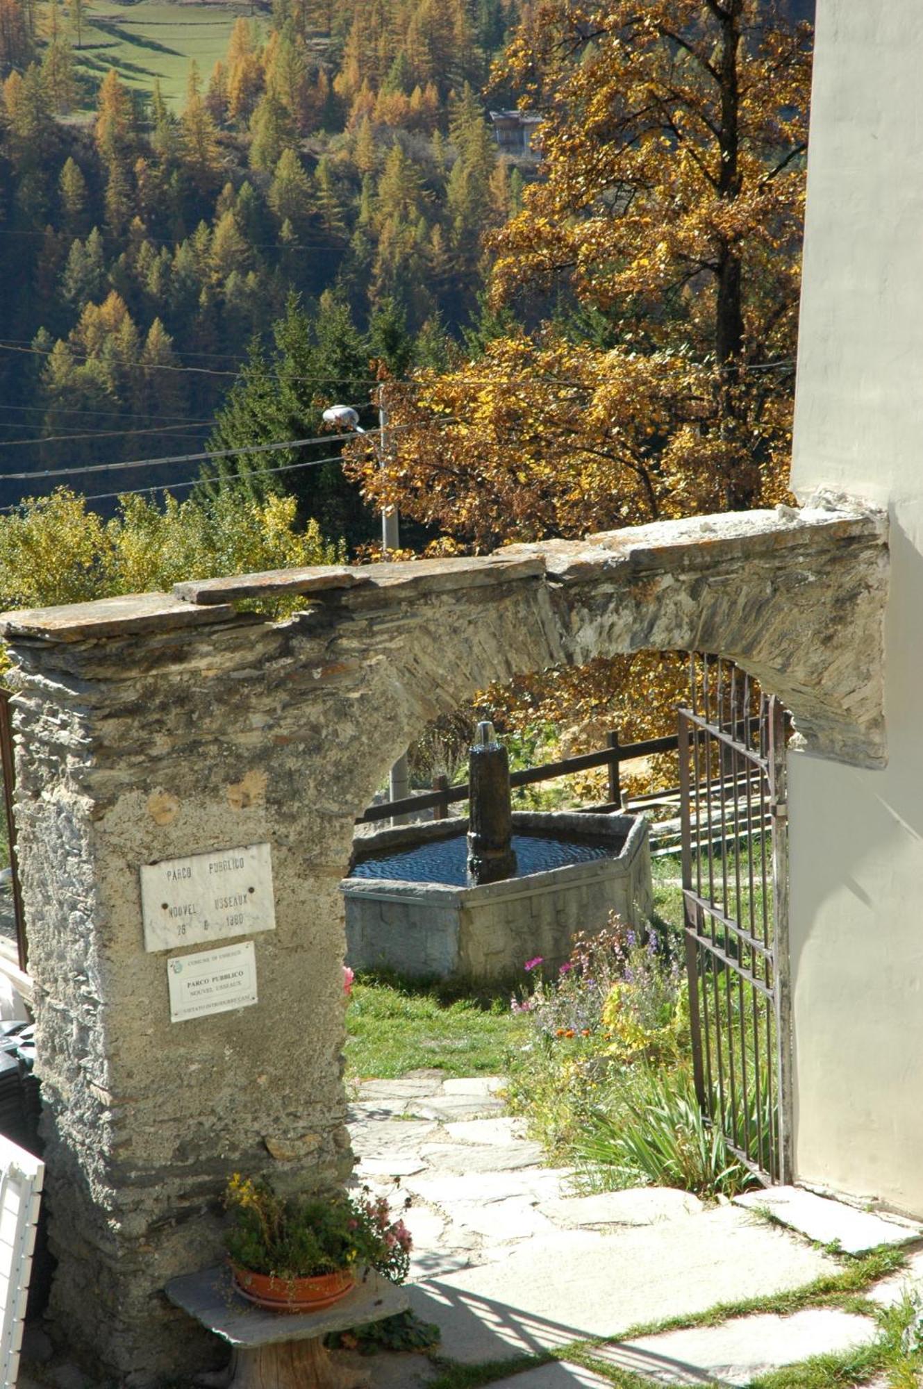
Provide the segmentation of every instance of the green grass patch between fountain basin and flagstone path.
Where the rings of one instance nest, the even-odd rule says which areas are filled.
[[[507,997],[446,999],[436,988],[357,981],[346,1011],[352,1079],[395,1079],[421,1067],[446,1076],[498,1075],[527,1035]]]

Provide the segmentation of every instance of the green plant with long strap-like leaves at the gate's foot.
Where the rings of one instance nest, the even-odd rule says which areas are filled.
[[[596,1107],[577,1142],[578,1157],[617,1186],[678,1186],[701,1196],[734,1196],[753,1185],[719,1128],[703,1117],[685,1067],[648,1071],[621,1110]]]

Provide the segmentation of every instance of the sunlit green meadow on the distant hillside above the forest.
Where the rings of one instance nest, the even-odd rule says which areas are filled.
[[[218,58],[224,58],[231,29],[249,4],[171,4],[168,0],[96,0],[88,10],[82,46],[75,47],[76,71],[89,92],[115,68],[126,86],[150,92],[154,81],[167,101],[179,110],[186,96],[192,58],[203,89]]]

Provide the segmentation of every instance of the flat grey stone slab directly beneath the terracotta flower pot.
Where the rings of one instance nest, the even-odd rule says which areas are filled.
[[[409,1304],[403,1288],[370,1272],[366,1282],[357,1282],[332,1307],[292,1314],[264,1311],[235,1292],[231,1270],[224,1264],[174,1278],[164,1292],[175,1307],[182,1307],[232,1346],[314,1340],[329,1331],[348,1331],[349,1326],[366,1326],[371,1321],[393,1317]]]

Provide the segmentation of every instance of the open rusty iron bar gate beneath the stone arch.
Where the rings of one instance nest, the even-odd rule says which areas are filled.
[[[785,710],[694,656],[680,710],[683,900],[695,1088],[765,1182],[792,1179]]]

